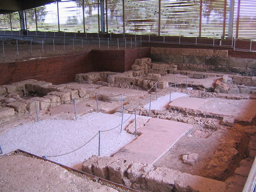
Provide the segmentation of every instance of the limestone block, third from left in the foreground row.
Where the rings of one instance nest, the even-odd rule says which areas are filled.
[[[132,163],[132,160],[126,161],[124,159],[119,159],[118,161],[114,161],[113,163],[109,164],[109,180],[115,183],[124,184],[124,174]]]

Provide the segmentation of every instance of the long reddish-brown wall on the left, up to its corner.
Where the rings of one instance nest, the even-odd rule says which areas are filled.
[[[43,80],[52,84],[74,82],[77,73],[92,71],[91,52],[81,52],[60,57],[1,63],[0,84],[10,84],[26,79]]]

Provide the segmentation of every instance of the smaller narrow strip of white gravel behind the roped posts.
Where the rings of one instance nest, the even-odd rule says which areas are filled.
[[[174,92],[171,93],[171,101],[175,100],[179,97],[187,97],[188,94],[186,93],[180,93],[180,92]],[[157,100],[151,100],[151,107],[150,110],[162,110],[166,109],[168,104],[170,103],[170,94],[158,97]],[[144,106],[144,108],[149,109],[149,103]]]

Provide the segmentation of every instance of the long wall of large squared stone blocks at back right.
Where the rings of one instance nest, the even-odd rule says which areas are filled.
[[[228,56],[228,50],[151,48],[151,59],[176,64],[178,70],[220,71],[256,76],[256,59]]]

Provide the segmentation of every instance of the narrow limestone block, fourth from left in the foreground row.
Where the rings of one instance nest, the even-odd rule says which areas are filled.
[[[129,169],[126,171],[128,174],[128,178],[132,182],[140,183],[141,176],[144,173],[142,168],[144,167],[144,164],[141,164],[139,162],[134,162]]]

